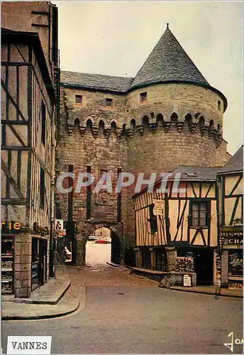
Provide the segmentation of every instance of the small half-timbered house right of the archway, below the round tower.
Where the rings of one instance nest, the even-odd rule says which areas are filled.
[[[160,180],[153,192],[135,195],[137,267],[173,273],[177,285],[184,273],[192,285],[215,283],[218,169],[180,165],[166,190],[160,192]]]

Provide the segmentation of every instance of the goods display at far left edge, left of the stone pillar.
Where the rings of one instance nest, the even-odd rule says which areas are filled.
[[[1,239],[1,292],[13,294],[14,240]]]

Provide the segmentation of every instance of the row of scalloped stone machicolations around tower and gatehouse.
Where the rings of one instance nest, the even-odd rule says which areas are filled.
[[[163,131],[169,134],[172,131],[177,131],[179,133],[182,132],[182,134],[187,132],[199,134],[200,136],[212,139],[216,143],[216,148],[218,148],[223,140],[221,123],[216,125],[213,119],[205,119],[204,115],[200,113],[194,115],[188,113],[183,117],[178,117],[174,112],[170,116],[170,119],[165,119],[161,113],[158,113],[157,116],[151,113],[138,117],[138,119],[128,119],[128,124],[123,125],[120,125],[116,119],[113,119],[109,124],[109,121],[106,119],[97,121],[92,116],[88,116],[86,119],[67,118],[67,131],[69,135],[72,134],[75,125],[79,127],[81,136],[91,133],[94,138],[98,136],[99,132],[105,138],[109,138],[111,134],[115,134],[118,139],[121,136],[132,139],[137,134],[143,136],[145,131],[151,131],[152,133]]]

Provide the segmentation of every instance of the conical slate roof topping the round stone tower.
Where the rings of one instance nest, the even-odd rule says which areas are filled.
[[[168,28],[140,68],[131,88],[155,82],[193,82],[210,86]]]

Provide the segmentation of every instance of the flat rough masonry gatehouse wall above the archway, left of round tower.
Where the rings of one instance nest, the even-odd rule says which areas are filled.
[[[75,94],[82,95],[82,106],[76,105]],[[62,89],[60,115],[60,141],[56,151],[57,174],[68,171],[68,165],[74,166],[74,173],[84,173],[87,165],[95,180],[94,190],[101,177],[101,170],[111,174],[113,191],[109,194],[98,192],[91,194],[91,223],[117,223],[117,195],[115,182],[118,168],[127,170],[126,138],[121,136],[125,107],[123,96],[111,96],[100,92],[84,92],[75,89]],[[104,107],[105,98],[113,98],[113,108]],[[101,121],[104,123],[101,124]],[[99,125],[100,122],[100,125]],[[113,122],[113,124],[112,124]],[[111,126],[112,124],[112,126]],[[119,129],[119,127],[121,129]],[[74,182],[75,187],[75,182]],[[122,195],[122,219],[126,213],[126,196]],[[67,220],[68,195],[58,194],[62,219]],[[79,234],[84,236],[84,224],[87,223],[86,188],[73,195],[73,220],[78,223]],[[87,236],[86,236],[87,237]]]

